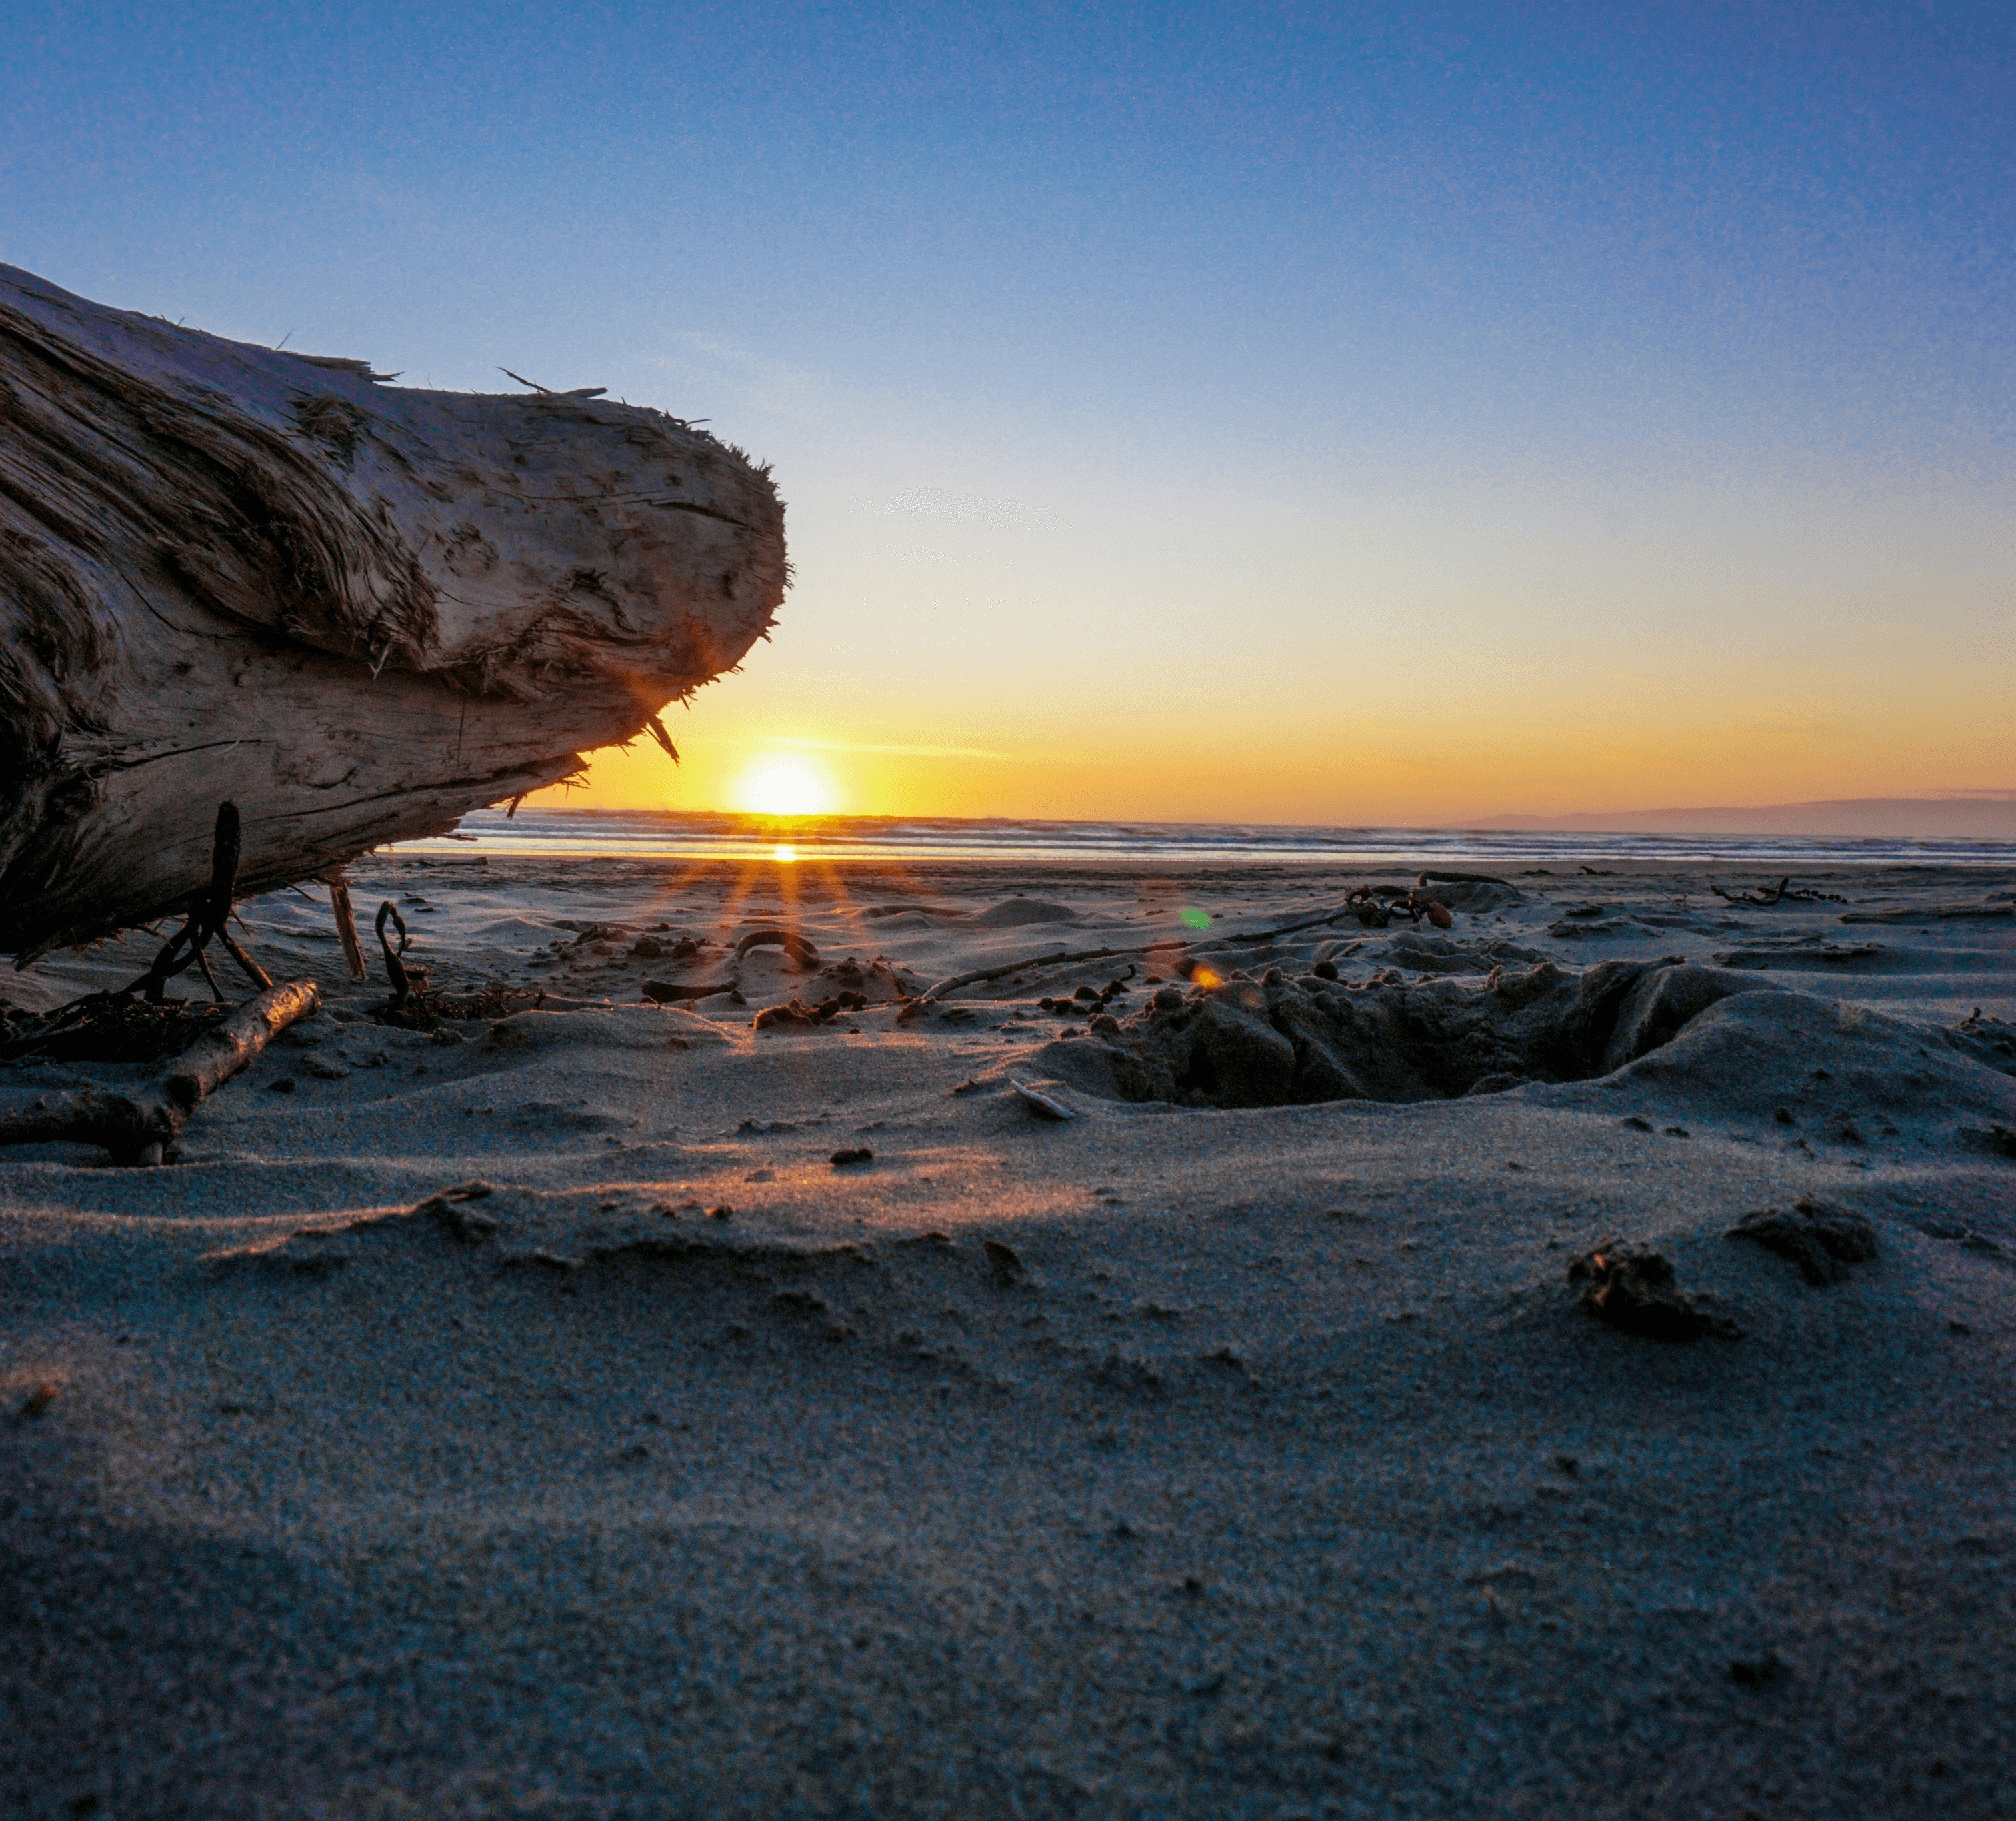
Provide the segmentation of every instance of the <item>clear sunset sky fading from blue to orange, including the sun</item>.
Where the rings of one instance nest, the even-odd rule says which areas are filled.
[[[774,462],[571,801],[2016,786],[2016,8],[28,4],[0,258]]]

